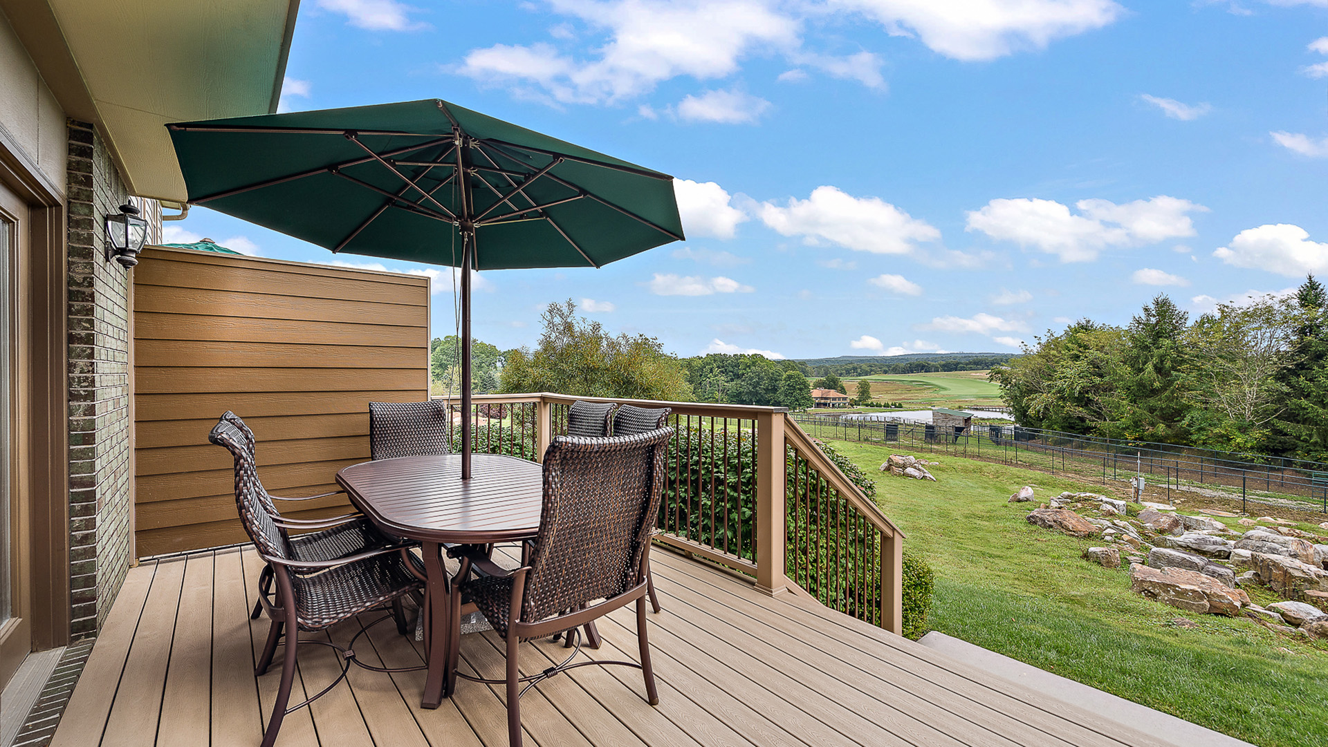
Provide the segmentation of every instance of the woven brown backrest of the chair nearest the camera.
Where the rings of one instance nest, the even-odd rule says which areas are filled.
[[[615,597],[643,581],[672,435],[673,429],[660,429],[550,443],[523,622]]]

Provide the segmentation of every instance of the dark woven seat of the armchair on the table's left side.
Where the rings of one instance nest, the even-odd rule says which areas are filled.
[[[414,553],[410,563],[424,573]],[[400,552],[376,555],[313,575],[291,575],[295,588],[295,614],[301,630],[321,630],[361,612],[418,589],[421,581],[410,573]]]

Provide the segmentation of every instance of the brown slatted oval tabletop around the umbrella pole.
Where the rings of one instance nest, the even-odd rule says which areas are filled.
[[[394,535],[421,541],[489,544],[535,536],[543,467],[502,454],[401,456],[353,464],[336,480],[351,502]]]

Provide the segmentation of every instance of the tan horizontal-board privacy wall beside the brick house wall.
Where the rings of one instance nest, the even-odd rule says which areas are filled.
[[[328,492],[339,470],[368,459],[369,402],[428,397],[428,348],[426,277],[145,251],[134,271],[137,553],[246,539],[234,460],[207,442],[222,413],[254,430],[268,491]],[[347,500],[283,508],[328,516]]]

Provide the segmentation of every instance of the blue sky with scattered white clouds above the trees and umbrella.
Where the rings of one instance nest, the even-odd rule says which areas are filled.
[[[301,4],[283,109],[418,98],[679,179],[684,244],[482,273],[499,348],[572,299],[680,356],[1017,350],[1328,275],[1328,0]],[[385,264],[436,275],[450,333],[450,271]]]

